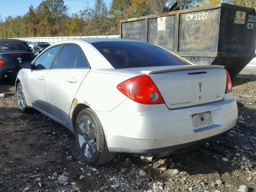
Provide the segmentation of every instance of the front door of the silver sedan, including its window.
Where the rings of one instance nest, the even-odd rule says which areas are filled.
[[[44,83],[58,50],[61,46],[50,48],[39,56],[33,63],[32,69],[24,75],[27,103],[46,111],[46,97]]]

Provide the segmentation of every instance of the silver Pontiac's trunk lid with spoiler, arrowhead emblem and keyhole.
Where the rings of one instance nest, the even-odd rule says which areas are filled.
[[[150,76],[170,109],[216,102],[224,98],[226,71],[223,66],[162,66],[139,70]]]

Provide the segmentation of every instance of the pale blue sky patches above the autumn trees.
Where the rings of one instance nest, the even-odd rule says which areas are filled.
[[[111,0],[104,0],[106,5],[109,6]],[[4,19],[8,15],[12,17],[21,15],[23,16],[28,12],[28,7],[32,4],[36,8],[42,0],[0,0],[1,12],[0,15]],[[69,8],[68,13],[78,13],[80,10],[92,6],[95,0],[64,0],[65,5]]]

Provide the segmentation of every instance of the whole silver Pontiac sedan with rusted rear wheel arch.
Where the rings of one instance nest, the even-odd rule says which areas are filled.
[[[159,46],[124,39],[53,44],[22,64],[22,112],[35,108],[76,136],[82,158],[106,163],[116,152],[154,161],[224,134],[236,124],[223,66],[199,66]]]

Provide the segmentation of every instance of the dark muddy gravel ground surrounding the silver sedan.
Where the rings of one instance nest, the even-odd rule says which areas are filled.
[[[0,191],[256,192],[255,71],[246,67],[233,81],[239,118],[228,134],[154,163],[117,154],[101,166],[83,162],[63,126],[20,113],[14,84],[0,82],[9,96],[0,98]]]

